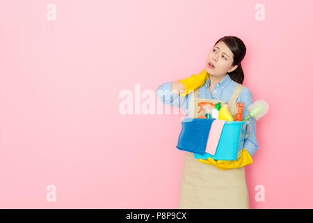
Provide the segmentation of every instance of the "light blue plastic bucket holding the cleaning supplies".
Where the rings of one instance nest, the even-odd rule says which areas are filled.
[[[247,125],[249,130],[246,134]],[[250,135],[250,131],[249,121],[225,121],[216,153],[214,155],[194,153],[194,157],[204,160],[207,160],[208,157],[212,157],[214,160],[236,160],[241,156],[243,142]]]

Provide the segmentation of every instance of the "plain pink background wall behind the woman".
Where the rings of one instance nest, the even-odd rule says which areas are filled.
[[[313,208],[312,8],[309,0],[1,1],[0,208],[177,208],[182,114],[122,115],[119,95],[140,84],[157,105],[159,84],[200,72],[223,36],[246,44],[243,84],[270,107],[246,167],[250,208]],[[265,201],[255,200],[257,185]]]

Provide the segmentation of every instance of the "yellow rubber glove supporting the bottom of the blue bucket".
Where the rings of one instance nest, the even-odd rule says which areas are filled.
[[[237,160],[214,160],[212,157],[208,157],[207,160],[198,159],[200,162],[212,164],[218,169],[230,169],[239,168],[251,164],[253,162],[252,157],[245,148],[242,149],[241,156]]]

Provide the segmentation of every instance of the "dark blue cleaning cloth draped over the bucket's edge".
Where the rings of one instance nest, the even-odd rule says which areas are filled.
[[[204,155],[211,124],[215,118],[184,118],[176,148]]]

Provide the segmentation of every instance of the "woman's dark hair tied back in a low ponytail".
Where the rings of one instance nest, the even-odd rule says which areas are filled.
[[[244,45],[242,40],[237,38],[236,36],[224,36],[223,38],[217,40],[214,46],[220,41],[223,41],[223,43],[225,43],[234,54],[234,61],[232,63],[232,66],[238,65],[238,68],[236,68],[236,70],[233,70],[232,72],[229,72],[228,75],[230,75],[230,78],[234,82],[242,84],[245,76],[243,75],[241,61],[246,55],[246,46]]]

